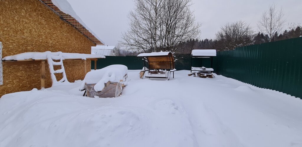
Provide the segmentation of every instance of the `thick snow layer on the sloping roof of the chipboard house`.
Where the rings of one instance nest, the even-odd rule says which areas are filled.
[[[75,18],[81,25],[83,25],[92,35],[95,36],[101,43],[104,44],[104,41],[101,40],[101,38],[96,35],[92,29],[88,28],[88,26],[82,21],[82,19],[76,14],[76,12],[73,10],[72,6],[69,4],[67,0],[51,0],[53,5],[56,5],[62,12],[69,14],[73,18]]]

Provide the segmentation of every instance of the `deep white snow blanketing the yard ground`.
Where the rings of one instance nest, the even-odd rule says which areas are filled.
[[[1,147],[301,147],[302,100],[215,75],[169,81],[129,70],[118,98],[82,97],[81,81],[0,99]]]

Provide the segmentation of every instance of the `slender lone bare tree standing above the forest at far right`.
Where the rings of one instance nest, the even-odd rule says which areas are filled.
[[[285,24],[284,12],[282,7],[280,10],[276,9],[276,4],[272,4],[268,11],[262,13],[260,20],[258,21],[259,31],[263,34],[268,34],[271,39],[276,32],[281,32],[282,27]]]

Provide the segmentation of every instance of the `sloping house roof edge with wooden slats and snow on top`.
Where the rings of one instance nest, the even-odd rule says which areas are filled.
[[[48,8],[50,8],[54,13],[59,15],[61,19],[72,25],[74,28],[76,28],[79,32],[81,32],[85,37],[87,37],[89,40],[91,40],[96,45],[104,45],[103,41],[95,35],[94,32],[92,32],[91,29],[89,29],[85,23],[79,18],[79,16],[76,15],[76,13],[73,11],[71,5],[66,0],[61,0],[56,2],[56,0],[39,0],[44,5],[46,5]],[[56,4],[54,5],[53,2]],[[60,10],[58,7],[62,10]],[[64,13],[64,12],[66,13]],[[69,15],[71,14],[71,15]]]

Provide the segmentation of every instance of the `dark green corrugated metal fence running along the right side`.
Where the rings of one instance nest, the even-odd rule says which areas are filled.
[[[302,98],[302,37],[217,52],[217,74]]]

